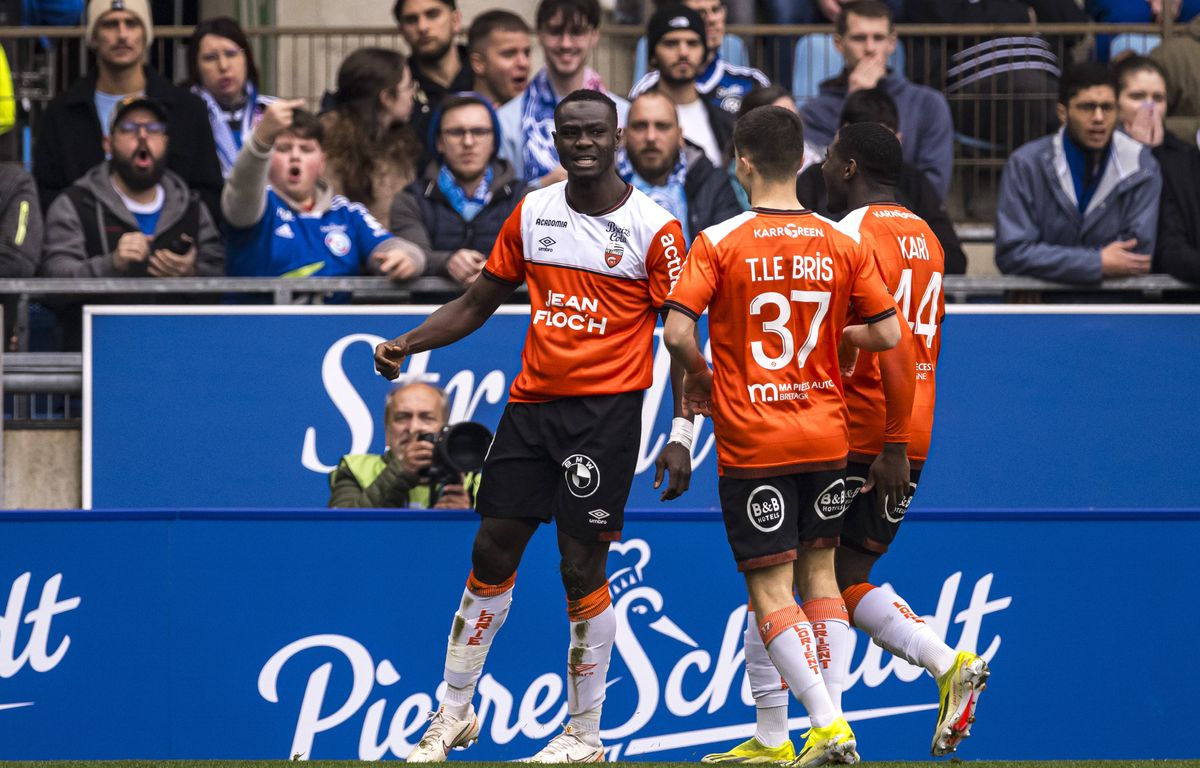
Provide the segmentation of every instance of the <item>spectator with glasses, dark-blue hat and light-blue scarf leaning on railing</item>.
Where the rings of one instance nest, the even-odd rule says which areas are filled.
[[[428,275],[469,286],[527,186],[496,156],[496,112],[481,94],[455,94],[433,112],[436,160],[391,204],[392,234],[425,254]]]

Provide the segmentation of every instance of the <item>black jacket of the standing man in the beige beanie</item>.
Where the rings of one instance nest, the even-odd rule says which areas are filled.
[[[197,96],[145,68],[146,96],[167,108],[167,167],[200,194],[215,220],[221,216],[221,164],[209,115]],[[42,115],[34,143],[34,178],[42,211],[54,198],[104,162],[104,133],[96,114],[96,70],[59,94]]]

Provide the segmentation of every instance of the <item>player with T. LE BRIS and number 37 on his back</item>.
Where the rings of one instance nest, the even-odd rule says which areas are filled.
[[[845,612],[834,575],[850,450],[838,346],[889,349],[900,324],[874,259],[796,199],[800,119],[760,107],[733,143],[755,208],[696,238],[664,338],[685,371],[685,413],[713,418],[721,511],[762,644],[812,722],[793,764],[857,762],[793,584],[806,607]],[[862,323],[846,326],[851,307]],[[695,336],[706,308],[712,371]]]

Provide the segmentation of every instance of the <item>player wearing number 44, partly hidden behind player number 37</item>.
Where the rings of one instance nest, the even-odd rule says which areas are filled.
[[[919,216],[896,204],[900,143],[876,122],[844,126],[829,148],[822,173],[833,211],[846,211],[838,228],[859,240],[906,320],[904,338],[892,350],[871,354],[842,348],[846,402],[850,407],[850,464],[838,584],[850,618],[876,643],[929,670],[941,689],[941,708],[931,751],[953,751],[970,733],[974,707],[989,671],[979,656],[955,653],[894,592],[869,583],[871,568],[895,539],[920,479],[934,422],[937,355],[941,349],[943,253]],[[848,673],[848,637],[840,622],[817,624],[830,644],[822,668],[830,698],[840,708]],[[842,644],[841,648],[836,647]],[[787,721],[787,691],[761,644],[748,640],[746,670],[755,696],[757,730],[750,742],[709,756],[772,754],[778,726]]]

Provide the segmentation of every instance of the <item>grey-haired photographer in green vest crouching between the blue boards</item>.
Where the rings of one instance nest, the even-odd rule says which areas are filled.
[[[467,509],[473,506],[476,475],[434,487],[430,484],[433,443],[450,418],[450,401],[440,389],[414,382],[388,392],[383,409],[386,449],[379,454],[342,456],[329,473],[329,505],[341,508]],[[467,492],[472,488],[472,493]]]

